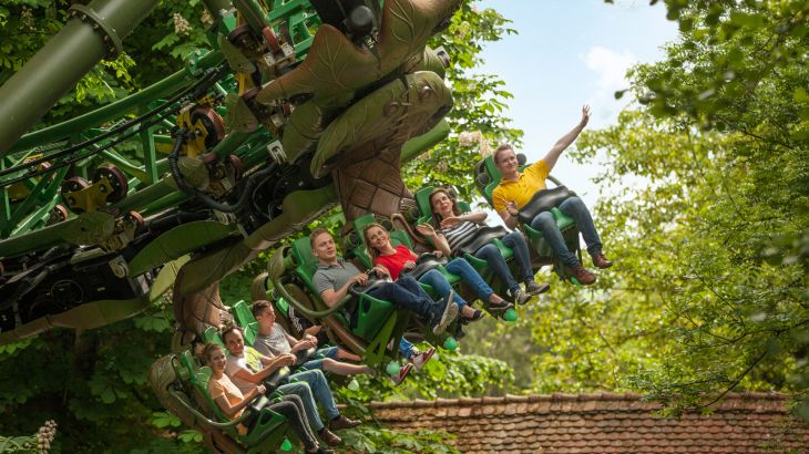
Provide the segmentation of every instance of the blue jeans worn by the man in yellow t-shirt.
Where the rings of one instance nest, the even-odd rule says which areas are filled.
[[[595,225],[593,224],[593,217],[590,215],[590,210],[578,197],[570,197],[562,202],[559,206],[559,210],[565,215],[572,217],[576,221],[578,231],[584,237],[584,243],[587,245],[587,252],[595,255],[601,252],[602,245],[598,239],[598,233],[595,231]],[[567,250],[567,246],[564,243],[562,233],[559,230],[556,220],[551,211],[542,211],[531,220],[531,228],[542,231],[545,237],[545,241],[553,249],[553,254],[559,257],[562,265],[573,268],[578,265],[576,256]]]

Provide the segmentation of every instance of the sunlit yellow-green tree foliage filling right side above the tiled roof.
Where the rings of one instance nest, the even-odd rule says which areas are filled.
[[[729,390],[800,395],[809,7],[666,4],[680,39],[632,72],[637,110],[571,154],[606,158],[595,218],[618,261],[596,286],[557,286],[547,308],[529,309],[522,322],[544,348],[535,389],[641,390],[675,412]]]

